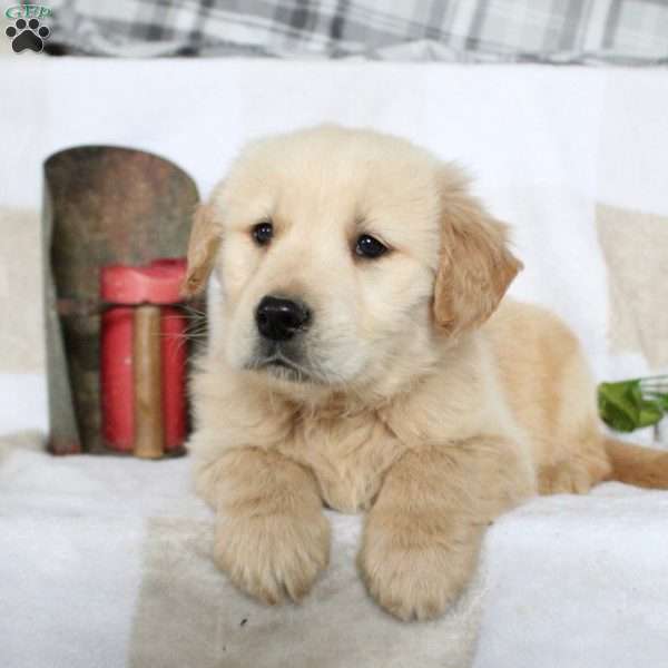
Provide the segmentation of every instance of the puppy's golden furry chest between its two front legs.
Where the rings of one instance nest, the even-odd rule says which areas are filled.
[[[404,446],[380,420],[353,415],[301,421],[282,450],[313,471],[327,505],[357,512],[371,505]]]

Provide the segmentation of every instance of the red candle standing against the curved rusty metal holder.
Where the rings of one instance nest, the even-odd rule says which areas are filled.
[[[102,402],[102,435],[106,444],[117,451],[132,452],[138,433],[146,434],[154,425],[157,444],[141,445],[143,456],[159,456],[163,452],[179,450],[186,436],[186,318],[174,305],[181,301],[179,288],[186,273],[186,261],[158,259],[144,267],[109,265],[100,274],[100,295],[109,304],[102,314],[100,382]],[[137,337],[136,318],[147,315],[138,310],[150,305],[160,307],[159,336],[141,345],[159,346],[159,369],[154,369],[153,381],[160,393],[150,406],[136,404],[136,387],[143,390],[141,401],[151,379],[138,374],[151,373],[150,365],[134,360]],[[137,353],[146,362],[148,352]],[[155,366],[155,365],[154,365]],[[156,373],[157,372],[157,373]],[[139,385],[137,385],[139,383]],[[147,413],[148,411],[148,413]],[[159,411],[161,415],[157,415]],[[146,420],[145,424],[136,424]],[[161,430],[156,430],[156,420]],[[145,428],[145,429],[139,429]],[[150,435],[150,429],[148,430]],[[156,451],[156,446],[159,449]],[[153,448],[153,449],[151,449]]]

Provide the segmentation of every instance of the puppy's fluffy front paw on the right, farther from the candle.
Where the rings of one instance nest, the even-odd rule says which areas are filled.
[[[439,617],[456,601],[475,568],[475,541],[456,543],[429,534],[375,525],[366,529],[358,566],[371,596],[404,621]],[[452,536],[453,541],[460,537]]]

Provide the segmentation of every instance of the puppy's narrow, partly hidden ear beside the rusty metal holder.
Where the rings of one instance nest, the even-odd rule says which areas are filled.
[[[181,285],[185,297],[198,294],[206,286],[219,245],[220,225],[214,217],[212,205],[197,205],[188,242],[188,268]]]

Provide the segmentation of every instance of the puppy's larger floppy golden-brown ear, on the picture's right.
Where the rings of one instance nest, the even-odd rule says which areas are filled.
[[[434,318],[454,334],[484,323],[523,265],[508,248],[507,226],[469,194],[466,179],[449,168],[442,184]]]

